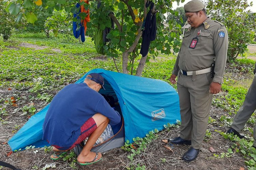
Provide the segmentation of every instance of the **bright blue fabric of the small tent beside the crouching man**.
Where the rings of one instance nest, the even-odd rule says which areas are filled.
[[[176,120],[180,120],[179,96],[168,83],[104,69],[93,69],[75,83],[82,83],[90,73],[100,73],[108,82],[104,84],[106,90],[99,91],[101,94],[118,100],[124,118],[125,140],[143,138],[148,131],[155,128],[160,131],[164,129],[164,124],[175,124]],[[49,105],[33,115],[8,141],[13,151],[30,145],[49,146],[42,140],[42,125]],[[115,134],[120,127],[112,129]]]

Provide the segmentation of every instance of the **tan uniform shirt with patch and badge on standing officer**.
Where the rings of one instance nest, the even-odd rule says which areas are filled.
[[[193,47],[195,37],[198,42],[193,49],[190,47]],[[227,50],[228,33],[225,26],[209,17],[198,28],[189,27],[185,33],[172,74],[178,75],[179,69],[202,70],[215,63],[213,82],[223,83]]]

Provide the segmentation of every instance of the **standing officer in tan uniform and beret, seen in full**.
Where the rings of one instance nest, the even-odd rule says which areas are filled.
[[[180,97],[181,133],[170,138],[191,148],[183,155],[186,162],[196,159],[205,136],[213,94],[219,93],[227,60],[228,35],[225,26],[207,17],[199,0],[184,5],[190,24],[170,78]],[[214,78],[211,65],[215,63]]]

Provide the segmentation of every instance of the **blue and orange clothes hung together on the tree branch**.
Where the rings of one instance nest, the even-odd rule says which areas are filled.
[[[85,2],[87,4],[89,4],[88,0],[80,0],[80,2]],[[77,29],[77,22],[73,21],[73,34],[75,36],[75,38],[79,38],[79,36],[81,36],[81,41],[84,42],[85,41],[85,33],[86,33],[86,29],[87,29],[87,22],[90,21],[90,14],[89,14],[89,9],[85,9],[84,5],[80,5],[80,3],[76,4],[76,7],[79,8],[80,10],[78,13],[74,13],[74,18],[76,18],[77,20],[80,20],[81,17],[79,17],[80,13],[86,13],[86,17],[84,19],[81,19],[81,23],[78,24],[79,29]]]

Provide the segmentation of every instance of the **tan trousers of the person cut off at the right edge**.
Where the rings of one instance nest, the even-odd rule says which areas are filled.
[[[256,109],[256,74],[254,74],[253,82],[245,96],[243,105],[240,107],[234,117],[231,128],[240,132],[247,120],[252,116]],[[256,146],[256,125],[253,129],[254,146]]]

